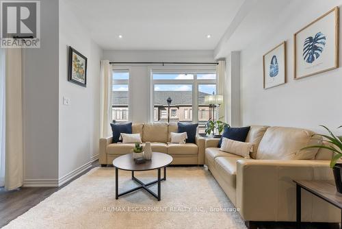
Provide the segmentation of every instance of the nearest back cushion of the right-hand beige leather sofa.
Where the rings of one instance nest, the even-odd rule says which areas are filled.
[[[314,132],[300,128],[267,128],[261,139],[257,159],[301,160],[315,159],[318,149],[304,149],[310,145],[321,145],[321,140],[312,138]]]

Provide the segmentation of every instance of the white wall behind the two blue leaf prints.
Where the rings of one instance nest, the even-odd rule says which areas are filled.
[[[341,3],[337,0],[289,1],[289,5],[281,9],[281,14],[274,17],[276,20],[267,21],[267,27],[259,24],[257,37],[250,34],[250,45],[241,51],[243,125],[282,125],[322,132],[319,124],[330,128],[342,124],[342,106],[339,105],[342,97],[341,68],[293,80],[293,34]],[[241,26],[255,25],[259,21],[257,16],[267,15],[267,10],[267,5],[259,5],[259,14],[249,17]],[[341,39],[342,36],[340,44]],[[263,54],[283,40],[287,41],[287,84],[264,90]],[[339,65],[342,65],[342,58]]]

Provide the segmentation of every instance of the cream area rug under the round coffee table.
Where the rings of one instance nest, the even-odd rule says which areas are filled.
[[[5,228],[246,228],[207,169],[168,168],[160,202],[142,189],[116,200],[114,173],[113,167],[92,169]],[[155,180],[157,171],[135,177]],[[136,186],[128,171],[119,171],[119,181],[120,193]]]

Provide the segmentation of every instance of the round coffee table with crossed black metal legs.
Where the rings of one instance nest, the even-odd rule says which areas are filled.
[[[161,180],[166,180],[166,167],[170,165],[172,162],[173,158],[172,156],[168,154],[163,154],[163,153],[157,153],[153,152],[152,160],[147,160],[146,162],[142,164],[135,164],[135,161],[133,160],[133,155],[132,154],[125,154],[122,156],[119,156],[118,158],[115,158],[113,160],[113,165],[115,167],[115,198],[118,200],[118,197],[122,195],[126,195],[128,193],[131,193],[133,191],[137,191],[139,189],[145,189],[150,193],[150,195],[153,195],[157,200],[160,200],[161,198],[161,187],[160,187],[160,182]],[[164,169],[164,177],[161,178],[160,173],[161,173],[161,168]],[[140,186],[137,186],[134,189],[130,189],[128,191],[124,191],[123,193],[119,194],[119,187],[118,187],[118,176],[119,176],[119,169],[126,170],[126,171],[132,171],[132,180],[140,184]],[[148,171],[148,170],[153,170],[153,169],[158,169],[158,179],[154,180],[152,182],[144,183],[141,180],[138,180],[134,176],[134,171]],[[158,183],[158,193],[154,193],[150,189],[148,189],[148,186]]]

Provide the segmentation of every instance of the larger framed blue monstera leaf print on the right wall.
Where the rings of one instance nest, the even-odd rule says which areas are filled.
[[[294,38],[294,78],[339,67],[339,8],[300,29]]]

